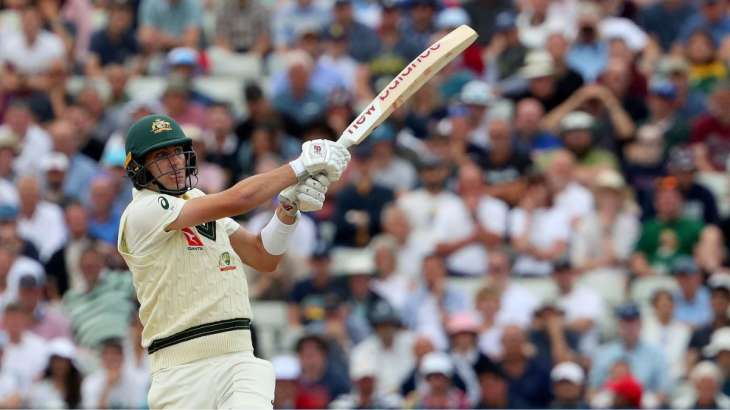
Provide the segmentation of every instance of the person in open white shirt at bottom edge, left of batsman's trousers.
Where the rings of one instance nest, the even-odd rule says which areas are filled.
[[[100,343],[101,368],[81,384],[81,406],[85,409],[143,408],[147,386],[124,367],[124,349],[119,339]]]

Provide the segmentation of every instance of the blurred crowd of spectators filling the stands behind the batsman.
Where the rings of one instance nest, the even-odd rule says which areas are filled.
[[[184,124],[217,192],[469,24],[248,272],[275,407],[730,408],[728,0],[0,4],[0,407],[146,407],[131,123]]]

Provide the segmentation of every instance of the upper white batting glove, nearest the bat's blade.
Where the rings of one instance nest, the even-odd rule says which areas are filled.
[[[334,141],[314,140],[302,144],[302,154],[289,165],[302,181],[307,175],[325,174],[329,181],[337,181],[350,162],[347,148]]]

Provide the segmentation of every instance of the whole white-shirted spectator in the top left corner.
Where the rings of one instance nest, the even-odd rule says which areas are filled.
[[[64,57],[63,40],[44,30],[39,9],[33,4],[22,7],[21,28],[3,35],[0,59],[29,83],[44,74],[54,60]]]

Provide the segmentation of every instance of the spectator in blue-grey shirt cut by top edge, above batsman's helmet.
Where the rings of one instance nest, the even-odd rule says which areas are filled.
[[[194,0],[142,0],[137,40],[147,53],[175,47],[197,48],[202,17],[201,4]]]

